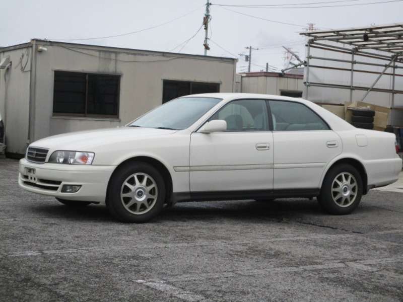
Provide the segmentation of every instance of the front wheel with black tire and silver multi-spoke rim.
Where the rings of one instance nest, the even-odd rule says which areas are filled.
[[[147,222],[158,215],[165,202],[161,174],[147,163],[136,162],[120,168],[112,176],[106,206],[123,222]]]

